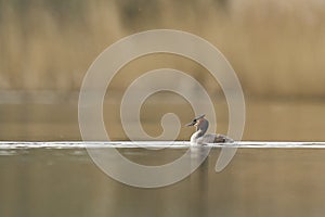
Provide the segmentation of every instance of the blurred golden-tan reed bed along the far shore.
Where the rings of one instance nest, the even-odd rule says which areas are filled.
[[[76,91],[105,48],[155,28],[209,40],[247,94],[324,97],[325,3],[315,0],[2,0],[0,89]],[[204,68],[170,55],[130,63],[110,88],[122,91],[143,71],[160,66],[186,71],[213,89]]]

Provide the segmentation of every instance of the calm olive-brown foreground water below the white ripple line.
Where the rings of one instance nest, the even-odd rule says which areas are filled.
[[[313,144],[313,149],[303,146],[308,143],[300,149],[263,145],[255,149],[257,144],[251,143],[250,148],[238,149],[231,164],[218,174],[214,164],[220,148],[216,146],[191,176],[158,189],[133,188],[115,181],[95,166],[80,144],[10,145],[0,144],[0,216],[323,216],[325,213],[323,144]],[[118,150],[134,162],[157,165],[181,156],[186,148],[153,151],[125,145]]]

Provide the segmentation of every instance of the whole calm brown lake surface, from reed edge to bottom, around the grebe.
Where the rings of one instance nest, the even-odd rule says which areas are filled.
[[[244,140],[325,141],[324,102],[246,103]],[[105,104],[105,124],[110,138],[126,140],[117,105],[118,102]],[[186,106],[174,104],[170,111],[169,103],[167,106],[147,103],[142,113],[143,128],[158,136],[159,120],[166,112],[176,112],[185,124],[193,116]],[[218,131],[224,133],[226,104],[216,106],[220,117]],[[220,148],[214,146],[204,164],[184,180],[165,188],[140,189],[105,175],[82,145],[55,142],[81,140],[77,114],[76,102],[0,104],[1,217],[306,217],[325,213],[323,144],[246,142],[219,174],[214,165]],[[187,140],[192,132],[193,129],[182,128],[178,140]],[[180,157],[187,148],[153,151],[122,145],[118,150],[135,163],[161,165]]]

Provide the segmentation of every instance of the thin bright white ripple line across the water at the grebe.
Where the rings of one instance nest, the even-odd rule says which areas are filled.
[[[209,143],[209,148],[239,149],[325,149],[325,142],[287,142],[287,141],[237,141],[235,143]],[[153,148],[187,149],[193,145],[187,141],[0,141],[0,150],[6,149],[100,149],[100,148]]]

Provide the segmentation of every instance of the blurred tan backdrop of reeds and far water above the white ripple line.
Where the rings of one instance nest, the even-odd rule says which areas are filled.
[[[244,140],[324,140],[324,23],[320,0],[0,0],[0,139],[80,140],[78,91],[95,58],[122,37],[170,28],[208,40],[237,73],[247,106]],[[185,58],[154,54],[130,62],[108,87],[112,139],[128,140],[119,118],[123,91],[159,67],[197,79],[214,99],[218,131],[226,133],[226,102],[209,73]],[[154,94],[141,110],[147,133],[161,133],[166,112],[182,124],[194,115],[182,97]],[[192,132],[181,129],[178,139]]]

